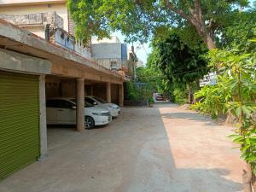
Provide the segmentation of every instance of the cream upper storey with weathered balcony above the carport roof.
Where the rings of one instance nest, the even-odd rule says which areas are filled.
[[[74,25],[65,0],[1,1],[0,19],[91,58],[89,44],[84,45],[73,37]]]

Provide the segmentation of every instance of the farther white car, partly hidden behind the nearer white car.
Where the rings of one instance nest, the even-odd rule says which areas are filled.
[[[94,106],[99,106],[101,108],[106,108],[110,112],[112,117],[117,117],[120,114],[120,108],[118,105],[109,103],[97,96],[85,96],[84,102],[89,102]]]

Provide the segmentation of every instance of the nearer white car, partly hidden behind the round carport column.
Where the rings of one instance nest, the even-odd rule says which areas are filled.
[[[46,102],[47,124],[76,124],[76,100],[74,98],[51,98]],[[112,116],[110,112],[88,102],[84,103],[84,124],[86,129],[95,125],[106,125],[110,123]]]

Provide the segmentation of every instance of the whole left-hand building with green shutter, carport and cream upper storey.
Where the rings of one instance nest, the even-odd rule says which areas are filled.
[[[1,180],[47,155],[46,98],[74,96],[83,131],[84,96],[123,106],[125,78],[70,35],[65,1],[2,0],[0,15]]]

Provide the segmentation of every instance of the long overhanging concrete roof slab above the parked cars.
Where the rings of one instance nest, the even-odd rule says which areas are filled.
[[[125,81],[119,73],[112,72],[96,62],[78,55],[73,50],[51,44],[44,38],[5,20],[0,20],[0,47],[51,61],[54,75],[119,84]]]

